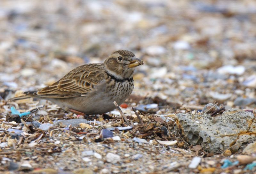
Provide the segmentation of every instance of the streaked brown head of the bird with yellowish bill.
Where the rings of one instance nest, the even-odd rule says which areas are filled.
[[[119,50],[112,53],[103,63],[105,70],[117,79],[132,78],[136,66],[143,61],[136,58],[131,51]]]

